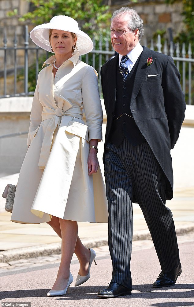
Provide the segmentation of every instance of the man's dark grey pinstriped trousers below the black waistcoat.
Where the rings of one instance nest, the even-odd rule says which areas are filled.
[[[108,199],[108,244],[112,279],[132,289],[132,198],[144,214],[161,269],[170,272],[179,260],[172,213],[165,206],[165,175],[148,143],[133,146],[125,138],[119,147],[109,143],[105,154],[106,196]]]

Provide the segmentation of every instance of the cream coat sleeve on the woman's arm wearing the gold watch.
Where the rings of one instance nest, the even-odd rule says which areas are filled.
[[[82,98],[86,123],[89,128],[89,139],[102,140],[103,110],[99,96],[98,74],[88,66],[82,81]]]

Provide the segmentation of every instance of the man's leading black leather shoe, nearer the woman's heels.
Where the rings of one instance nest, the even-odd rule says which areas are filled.
[[[107,289],[100,290],[97,294],[98,297],[104,298],[118,297],[119,295],[131,295],[131,289],[112,281]]]

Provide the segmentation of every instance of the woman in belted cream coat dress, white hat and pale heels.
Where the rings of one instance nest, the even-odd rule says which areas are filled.
[[[90,277],[95,251],[82,245],[77,222],[107,222],[107,200],[97,159],[102,107],[95,69],[79,60],[93,44],[68,16],[36,26],[30,37],[53,52],[38,76],[29,145],[21,167],[11,220],[47,222],[62,238],[57,278],[47,296],[64,295],[73,281],[73,252],[80,262],[76,286]],[[83,121],[83,108],[86,124]]]

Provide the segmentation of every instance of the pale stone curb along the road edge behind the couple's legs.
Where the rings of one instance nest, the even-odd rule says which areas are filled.
[[[177,235],[186,234],[194,231],[194,226],[187,227],[186,225],[176,229]],[[138,230],[134,231],[133,241],[138,240],[151,240],[151,235],[147,230]],[[88,240],[82,241],[84,246],[89,247],[99,247],[103,245],[108,245],[107,238],[101,238],[98,240]],[[60,254],[61,253],[61,244],[60,243],[51,243],[51,244],[42,244],[37,246],[29,246],[24,248],[15,248],[12,250],[2,251],[0,253],[0,262],[10,262],[13,260],[27,259],[27,258],[36,258],[38,256],[49,256],[51,254]]]

